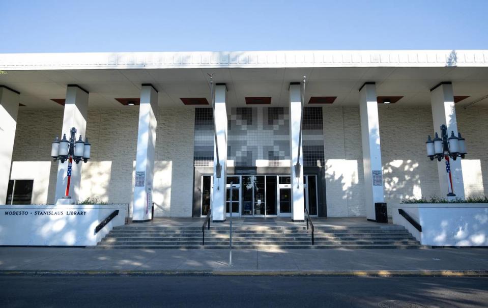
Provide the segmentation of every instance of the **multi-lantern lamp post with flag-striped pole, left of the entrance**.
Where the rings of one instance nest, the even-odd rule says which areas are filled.
[[[65,199],[69,199],[70,182],[71,182],[71,167],[73,160],[78,164],[81,160],[88,162],[90,159],[91,144],[88,142],[88,138],[85,137],[85,141],[79,136],[76,141],[76,128],[71,128],[70,137],[66,139],[66,134],[63,134],[63,139],[59,140],[59,136],[56,136],[51,145],[51,158],[52,161],[61,160],[64,163],[68,160],[68,183],[66,185]]]

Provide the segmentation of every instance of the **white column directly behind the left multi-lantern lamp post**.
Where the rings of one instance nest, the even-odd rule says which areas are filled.
[[[76,136],[82,136],[85,139],[85,131],[87,129],[88,119],[88,91],[79,87],[78,85],[68,85],[66,88],[66,100],[63,115],[63,128],[60,134],[60,139],[63,134],[69,139],[70,130],[72,127],[76,128]],[[53,136],[54,137],[54,136]],[[46,154],[47,155],[47,154]],[[81,183],[81,166],[83,162],[78,164],[73,161],[71,168],[71,183],[69,203],[76,203],[79,199],[80,183]],[[58,179],[56,181],[56,192],[54,203],[62,199],[66,193],[66,185],[68,183],[68,161],[58,164]]]

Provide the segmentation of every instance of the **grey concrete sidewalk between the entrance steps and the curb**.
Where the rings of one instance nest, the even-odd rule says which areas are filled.
[[[0,247],[0,274],[483,275],[487,248],[93,249]]]

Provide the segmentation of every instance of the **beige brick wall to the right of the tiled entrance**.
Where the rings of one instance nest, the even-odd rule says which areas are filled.
[[[379,105],[385,201],[439,195],[437,164],[425,156],[433,135],[432,109]],[[463,160],[466,196],[488,195],[488,108],[456,108],[467,141]],[[362,146],[358,107],[323,108],[328,216],[364,216]],[[439,129],[437,129],[439,130]],[[477,142],[476,142],[477,141]]]

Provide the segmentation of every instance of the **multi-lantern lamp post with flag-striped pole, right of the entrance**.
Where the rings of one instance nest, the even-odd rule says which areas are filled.
[[[447,126],[441,125],[441,137],[436,132],[434,140],[427,137],[427,142],[425,143],[427,148],[427,156],[430,160],[437,158],[438,161],[442,161],[442,158],[446,159],[446,173],[447,177],[447,197],[456,197],[452,189],[452,176],[451,167],[449,164],[449,158],[456,160],[457,157],[464,158],[466,156],[466,143],[465,139],[461,136],[461,133],[454,135],[454,131],[451,131],[451,135],[448,136]]]

